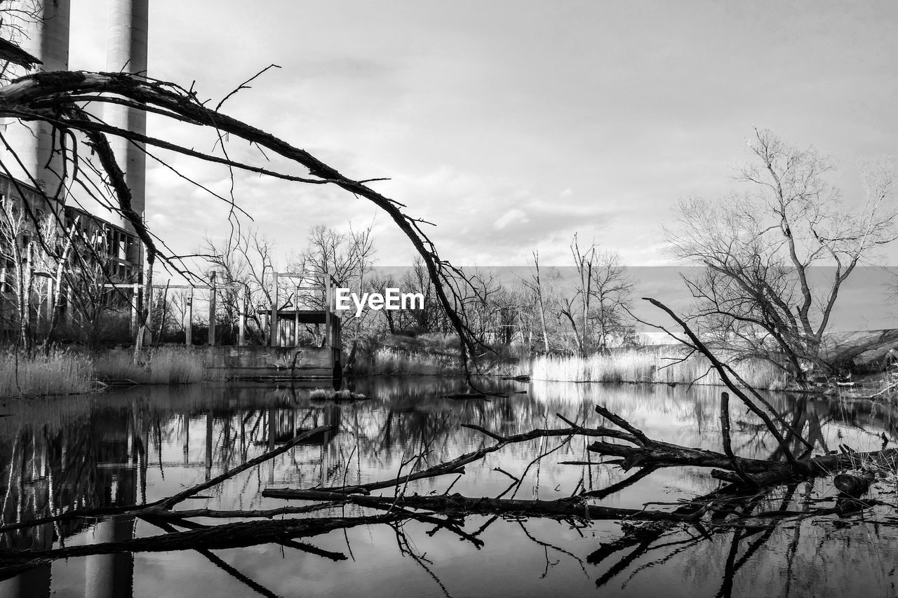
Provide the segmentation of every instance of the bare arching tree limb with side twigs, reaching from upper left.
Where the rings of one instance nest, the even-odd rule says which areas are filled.
[[[0,31],[0,37],[3,37]],[[10,42],[13,43],[13,42]],[[15,44],[13,43],[13,46]],[[22,67],[31,66],[39,62],[37,58],[5,53],[4,58],[12,60]],[[267,69],[263,69],[264,72]],[[261,72],[260,72],[261,74]],[[258,75],[256,75],[258,76]],[[252,77],[255,79],[256,76]],[[240,85],[234,92],[247,89],[247,85]],[[424,262],[427,275],[434,284],[436,301],[443,308],[443,313],[452,329],[462,339],[462,361],[467,364],[469,357],[475,354],[477,341],[471,335],[463,313],[462,281],[463,273],[454,268],[449,262],[440,259],[436,247],[430,242],[422,226],[429,224],[420,218],[406,215],[399,202],[387,198],[375,191],[369,185],[378,179],[354,180],[348,178],[329,164],[321,162],[295,145],[273,136],[259,128],[254,128],[240,120],[228,117],[221,111],[222,105],[233,95],[229,93],[222,101],[210,103],[201,100],[198,91],[192,86],[186,89],[178,84],[160,81],[144,75],[128,73],[92,73],[92,72],[57,72],[57,73],[31,73],[13,79],[10,83],[0,87],[0,117],[20,119],[29,122],[42,122],[53,130],[56,140],[55,151],[62,159],[62,183],[59,188],[76,187],[85,196],[90,196],[101,205],[109,207],[120,215],[134,228],[145,249],[144,293],[142,296],[149,298],[148,290],[153,285],[154,264],[161,259],[169,268],[173,268],[183,274],[185,272],[180,257],[168,250],[164,243],[154,237],[147,228],[144,219],[132,206],[131,190],[121,166],[109,143],[109,136],[118,136],[129,143],[136,144],[152,159],[159,160],[169,168],[170,164],[164,163],[154,152],[160,149],[175,154],[181,154],[208,163],[216,163],[223,166],[231,176],[233,171],[249,171],[267,177],[292,181],[304,185],[334,185],[354,194],[358,198],[371,201],[389,215],[408,238],[418,255]],[[171,141],[147,136],[117,128],[103,121],[94,113],[104,104],[115,103],[129,108],[154,112],[163,119],[179,124],[186,128],[205,129],[217,137],[216,147],[219,152],[204,152],[172,143]],[[225,146],[237,142],[249,143],[260,149],[260,160],[248,160],[240,162],[234,160],[225,150]],[[81,151],[81,145],[90,146],[90,151]],[[14,148],[6,143],[0,135],[0,145],[14,154]],[[292,162],[305,167],[308,175],[297,176],[286,171],[275,170],[265,159],[266,154],[276,154],[286,162]],[[7,176],[12,176],[8,165],[4,166]],[[173,169],[172,169],[173,170]],[[189,176],[177,171],[184,179],[196,184],[199,189],[210,192],[209,189],[193,181]],[[31,187],[39,188],[37,181],[27,180]],[[41,191],[43,193],[43,191]],[[47,198],[46,194],[45,198]],[[213,193],[215,197],[225,201],[228,208],[234,214],[239,207],[234,198],[222,198]],[[47,198],[48,200],[55,200]],[[28,217],[33,222],[36,215],[28,211]],[[136,352],[139,351],[140,339],[145,336],[149,327],[148,301],[141,306],[139,311],[140,333]]]

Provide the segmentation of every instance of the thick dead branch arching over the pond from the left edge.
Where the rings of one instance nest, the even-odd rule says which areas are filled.
[[[104,103],[124,104],[138,110],[152,111],[185,126],[209,128],[222,136],[242,139],[266,152],[278,154],[286,160],[298,163],[308,169],[308,176],[295,176],[282,171],[269,170],[266,166],[240,163],[228,157],[199,152],[189,147],[174,144],[164,139],[140,135],[121,128],[112,127],[95,118],[81,106]],[[436,300],[443,307],[453,330],[462,338],[462,358],[467,362],[477,347],[474,336],[463,318],[463,295],[460,281],[464,280],[461,270],[440,259],[436,247],[421,228],[428,224],[420,218],[406,215],[398,201],[387,198],[368,186],[374,180],[354,180],[348,178],[329,164],[321,162],[312,154],[295,145],[277,138],[240,120],[227,117],[213,110],[206,102],[199,101],[197,92],[184,89],[180,85],[167,83],[139,75],[125,73],[57,72],[36,73],[14,80],[0,88],[0,115],[29,121],[43,121],[55,128],[59,135],[78,132],[84,135],[92,146],[93,157],[89,153],[75,153],[69,148],[66,156],[88,171],[91,166],[84,161],[93,160],[92,168],[101,172],[108,181],[114,201],[111,208],[134,225],[136,234],[146,248],[147,271],[152,270],[155,259],[163,259],[172,268],[178,268],[177,256],[165,251],[147,229],[140,215],[131,207],[131,195],[119,164],[112,154],[108,136],[121,136],[128,141],[143,144],[147,151],[163,149],[178,154],[218,163],[232,169],[242,169],[261,175],[308,185],[335,185],[358,197],[365,198],[383,209],[393,223],[409,238],[418,251],[434,282]],[[73,136],[74,137],[74,136]],[[73,145],[75,142],[72,142]],[[77,175],[76,175],[77,176]],[[375,179],[376,180],[376,179]],[[101,199],[101,198],[98,198]],[[105,203],[109,203],[108,201]],[[29,217],[35,217],[30,214]],[[152,285],[152,277],[146,277],[145,285]],[[146,312],[146,310],[144,310]],[[145,313],[143,314],[145,321]]]

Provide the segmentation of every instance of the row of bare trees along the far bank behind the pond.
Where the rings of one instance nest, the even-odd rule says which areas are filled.
[[[314,226],[309,242],[285,265],[278,268],[304,273],[301,280],[279,279],[278,309],[322,309],[323,279],[330,275],[341,287],[357,295],[386,294],[388,288],[420,294],[423,307],[401,310],[355,310],[341,313],[344,343],[377,339],[385,334],[419,336],[451,334],[445,310],[436,299],[435,287],[424,263],[418,259],[401,274],[386,274],[374,268],[376,251],[371,228],[349,228],[338,232]],[[583,246],[574,236],[568,268],[533,263],[526,270],[511,268],[462,268],[456,280],[457,299],[471,335],[489,346],[515,346],[526,354],[557,353],[589,355],[612,347],[637,344],[637,335],[627,307],[633,286],[616,253],[595,244]],[[271,274],[275,271],[274,247],[258,232],[235,233],[224,245],[207,241],[204,251],[213,256],[209,265],[216,272],[216,329],[220,342],[233,342],[241,312],[242,295],[248,298],[246,338],[263,344],[269,341],[262,321],[272,297]],[[561,270],[568,276],[562,277]],[[296,287],[300,286],[299,289]],[[246,289],[243,291],[242,289]],[[173,295],[169,309],[172,329],[183,313],[183,294]],[[322,330],[304,325],[303,342],[320,343]]]

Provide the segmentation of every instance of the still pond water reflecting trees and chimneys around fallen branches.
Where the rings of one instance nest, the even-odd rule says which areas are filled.
[[[92,397],[0,404],[0,526],[71,508],[140,505],[231,470],[298,432],[311,438],[228,479],[177,509],[248,510],[307,503],[261,497],[265,488],[314,488],[392,479],[493,444],[476,424],[501,435],[566,427],[556,414],[596,426],[600,403],[649,437],[720,450],[719,389],[665,385],[498,383],[508,398],[451,400],[460,380],[374,378],[353,390],[370,400],[310,400],[308,388],[265,384],[142,387]],[[842,405],[785,394],[770,401],[804,426],[818,453],[848,444],[876,450],[894,438],[888,407]],[[765,458],[769,435],[738,405],[734,447]],[[555,499],[607,488],[633,474],[596,462],[581,438],[512,444],[472,463],[461,477],[409,484],[407,494],[497,497],[522,479],[516,498]],[[553,450],[554,449],[554,450]],[[543,453],[542,459],[533,460]],[[423,455],[415,459],[416,455]],[[529,467],[528,467],[529,465]],[[501,469],[497,470],[497,469]],[[880,483],[880,498],[894,493]],[[885,484],[886,488],[883,488]],[[796,508],[832,495],[829,480],[782,488],[770,508]],[[720,483],[707,470],[667,468],[595,504],[672,510]],[[391,494],[392,489],[384,494]],[[511,497],[511,494],[505,496]],[[307,516],[374,514],[357,506]],[[303,516],[303,515],[286,515]],[[0,535],[0,596],[874,596],[895,595],[898,530],[891,511],[875,521],[838,517],[787,520],[773,527],[708,534],[674,524],[633,532],[620,522],[469,515],[463,530],[434,523],[373,524],[329,532],[302,544],[260,543],[226,550],[92,554],[13,567],[8,550],[129,541],[164,534],[116,515],[45,523]],[[227,520],[194,519],[220,524]],[[625,532],[626,535],[625,535]],[[307,547],[306,547],[307,548]],[[321,553],[321,550],[327,551]]]

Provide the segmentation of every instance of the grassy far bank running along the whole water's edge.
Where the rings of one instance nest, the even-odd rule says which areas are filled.
[[[682,350],[674,346],[617,349],[587,357],[527,357],[521,355],[517,347],[492,349],[492,352],[484,351],[479,356],[479,374],[529,376],[533,380],[573,383],[723,385],[705,357],[685,357]],[[133,350],[127,347],[100,353],[70,347],[54,349],[48,356],[39,353],[31,358],[7,350],[0,354],[0,396],[76,394],[97,391],[108,384],[182,384],[227,378],[217,371],[221,367],[216,372],[209,369],[208,357],[207,347],[146,349],[138,364],[133,363]],[[346,351],[343,363],[348,363]],[[898,374],[890,377],[877,372],[858,375],[852,382],[826,382],[812,389],[797,389],[788,383],[786,374],[760,359],[744,360],[733,367],[745,383],[770,391],[802,390],[846,398],[891,400],[898,389],[898,380],[894,379]],[[304,368],[303,374],[308,374],[305,370],[308,368]],[[327,372],[330,379],[330,369]],[[285,374],[291,376],[290,372]],[[461,374],[464,374],[464,368],[458,340],[436,333],[365,339],[358,345],[355,363],[347,373],[348,376]]]

